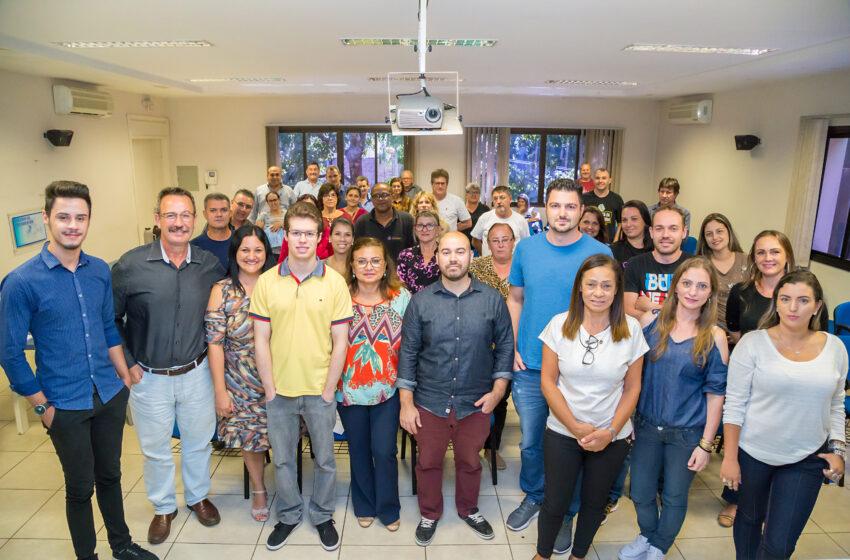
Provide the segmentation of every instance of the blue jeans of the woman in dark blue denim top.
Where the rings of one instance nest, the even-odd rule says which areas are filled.
[[[688,511],[688,490],[694,471],[688,461],[699,444],[703,429],[653,426],[638,416],[632,447],[632,501],[640,534],[665,554],[673,546]],[[659,481],[661,511],[658,511]]]

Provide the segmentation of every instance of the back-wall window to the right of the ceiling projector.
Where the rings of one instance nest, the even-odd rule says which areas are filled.
[[[514,197],[525,194],[532,205],[541,205],[550,181],[560,177],[575,179],[580,132],[511,129],[508,183]]]

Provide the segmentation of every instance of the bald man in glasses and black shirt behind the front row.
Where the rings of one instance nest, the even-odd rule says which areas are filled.
[[[374,208],[360,216],[354,224],[354,237],[374,237],[387,248],[387,252],[398,261],[398,254],[413,247],[413,216],[393,208],[392,193],[386,183],[375,183],[372,187]]]

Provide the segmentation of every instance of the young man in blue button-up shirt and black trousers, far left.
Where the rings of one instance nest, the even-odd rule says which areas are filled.
[[[112,556],[150,560],[124,521],[121,440],[131,379],[115,327],[112,280],[102,260],[82,252],[91,217],[88,187],[56,181],[45,189],[50,241],[0,286],[0,364],[12,390],[35,407],[65,473],[65,513],[77,558],[97,558],[91,496]],[[36,372],[24,356],[27,333]],[[116,374],[117,372],[117,374]]]

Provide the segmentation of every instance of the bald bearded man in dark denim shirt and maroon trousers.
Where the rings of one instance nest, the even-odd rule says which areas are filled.
[[[451,232],[437,245],[440,279],[413,296],[404,315],[398,379],[401,426],[416,437],[416,543],[434,538],[443,513],[443,458],[454,446],[457,513],[483,539],[493,528],[478,511],[490,413],[511,379],[513,330],[502,296],[469,277],[472,250]]]

